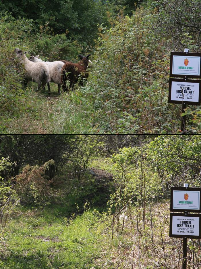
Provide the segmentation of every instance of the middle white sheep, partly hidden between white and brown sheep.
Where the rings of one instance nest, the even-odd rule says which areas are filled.
[[[61,68],[64,65],[64,62],[62,61],[54,61],[54,62],[45,62],[38,58],[39,55],[36,57],[30,56],[29,60],[32,62],[44,62],[47,64],[47,67],[49,68],[51,81],[58,84],[58,94],[61,94],[60,90],[60,84],[61,84]]]

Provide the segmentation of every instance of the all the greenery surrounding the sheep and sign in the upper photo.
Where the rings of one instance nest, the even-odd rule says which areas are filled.
[[[200,51],[198,0],[2,1],[0,10],[1,132],[181,133],[169,58]],[[23,87],[15,47],[50,61],[91,53],[88,83],[61,97],[53,83],[50,96]],[[188,132],[200,133],[200,107],[185,113]]]

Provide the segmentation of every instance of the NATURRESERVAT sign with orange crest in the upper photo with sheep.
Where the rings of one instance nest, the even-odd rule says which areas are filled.
[[[201,78],[201,53],[171,52],[170,77]]]

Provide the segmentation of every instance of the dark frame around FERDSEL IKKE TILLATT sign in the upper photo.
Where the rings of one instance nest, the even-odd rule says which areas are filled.
[[[185,100],[171,100],[171,92],[172,92],[172,81],[176,81],[178,83],[199,83],[199,97],[198,97],[198,102],[191,102],[191,101],[185,101]],[[169,95],[168,95],[168,103],[171,104],[189,104],[189,105],[200,105],[201,104],[201,81],[200,80],[195,80],[195,79],[172,79],[169,78]]]

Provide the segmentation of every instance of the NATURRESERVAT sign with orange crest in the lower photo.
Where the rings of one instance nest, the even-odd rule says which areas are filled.
[[[200,190],[171,187],[170,211],[201,212]]]

